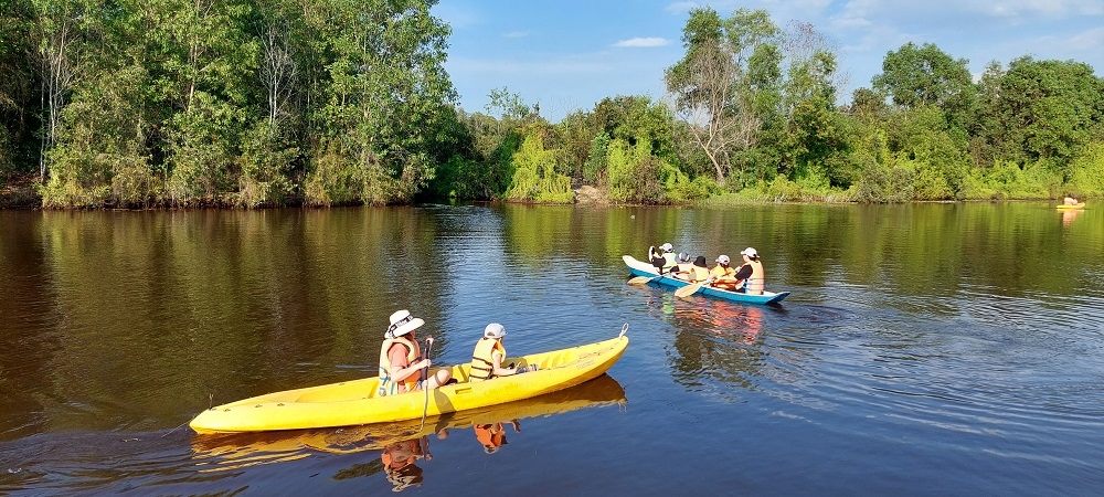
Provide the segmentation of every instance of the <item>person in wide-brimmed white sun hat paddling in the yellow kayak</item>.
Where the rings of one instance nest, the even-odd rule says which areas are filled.
[[[429,376],[429,359],[422,356],[417,342],[417,329],[425,325],[422,318],[403,309],[391,315],[391,325],[383,335],[380,347],[380,394],[393,395],[426,389],[435,389],[448,382],[448,369],[437,370]],[[433,347],[433,337],[426,337],[426,345]],[[421,373],[425,370],[423,378]]]

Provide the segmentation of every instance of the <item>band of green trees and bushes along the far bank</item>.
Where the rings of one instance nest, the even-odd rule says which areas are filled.
[[[887,53],[839,104],[815,27],[694,9],[660,99],[457,106],[436,1],[12,0],[0,208],[722,205],[1104,197],[1104,80]]]

